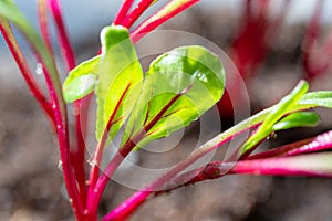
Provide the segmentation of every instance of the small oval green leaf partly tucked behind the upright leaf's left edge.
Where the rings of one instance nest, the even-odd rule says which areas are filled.
[[[66,103],[80,99],[94,90],[97,83],[100,60],[101,56],[95,56],[82,62],[69,73],[63,83],[63,96]]]

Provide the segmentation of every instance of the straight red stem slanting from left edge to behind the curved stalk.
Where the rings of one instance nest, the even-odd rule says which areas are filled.
[[[4,22],[7,24],[4,24]],[[6,27],[8,29],[6,29]],[[44,113],[46,114],[50,122],[52,123],[52,125],[55,128],[55,118],[54,118],[54,113],[53,113],[51,103],[45,98],[45,96],[43,95],[41,88],[39,87],[35,78],[33,77],[33,74],[31,73],[29,65],[24,59],[24,55],[23,55],[18,42],[15,41],[15,38],[13,36],[13,33],[10,29],[8,21],[0,22],[0,31],[4,38],[4,41],[10,50],[13,59],[15,60],[21,73],[22,73],[22,76],[24,77],[24,80],[28,84],[30,92],[32,93],[34,98],[38,101],[38,103],[40,104],[40,106],[42,107],[42,109],[44,110]]]

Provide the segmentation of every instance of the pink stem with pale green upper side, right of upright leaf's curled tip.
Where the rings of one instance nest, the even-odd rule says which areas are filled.
[[[189,7],[197,3],[199,0],[188,0],[187,2],[183,3],[181,6],[175,7],[173,6],[173,1],[166,4],[163,9],[156,12],[154,15],[146,19],[142,22],[135,30],[132,32],[133,42],[137,42],[142,39],[145,34],[153,31],[157,27],[165,23],[167,20],[172,19],[176,14],[180,13],[181,11],[188,9]]]

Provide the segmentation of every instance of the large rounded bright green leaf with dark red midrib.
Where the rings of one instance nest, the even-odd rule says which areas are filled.
[[[168,136],[215,105],[224,93],[219,59],[201,46],[183,46],[157,57],[128,119],[123,144],[139,147]]]

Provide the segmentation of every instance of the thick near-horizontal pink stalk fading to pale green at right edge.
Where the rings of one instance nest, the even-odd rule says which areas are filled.
[[[331,152],[323,152],[293,157],[240,160],[237,162],[211,161],[204,167],[176,176],[169,182],[184,185],[174,188],[166,183],[164,188],[166,191],[169,191],[169,188],[173,188],[172,190],[174,190],[205,180],[219,179],[225,175],[314,176],[331,178],[332,167],[331,164],[328,162],[331,158]],[[325,160],[325,162],[323,160]],[[314,165],[312,164],[313,161],[318,164]],[[308,165],[305,165],[307,162]],[[156,192],[156,196],[166,191],[158,191]]]

